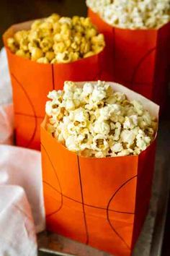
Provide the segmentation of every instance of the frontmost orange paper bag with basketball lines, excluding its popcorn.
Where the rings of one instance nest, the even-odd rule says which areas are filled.
[[[155,103],[111,85],[158,118]],[[148,211],[156,140],[140,155],[84,158],[45,130],[47,119],[41,126],[47,229],[114,255],[131,255]]]

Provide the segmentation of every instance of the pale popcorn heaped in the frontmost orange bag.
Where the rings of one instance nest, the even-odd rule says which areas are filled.
[[[107,82],[65,82],[48,94],[46,129],[68,150],[85,157],[138,155],[146,150],[158,122],[138,101],[128,101]]]

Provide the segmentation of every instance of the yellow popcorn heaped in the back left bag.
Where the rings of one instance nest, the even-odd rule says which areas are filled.
[[[52,14],[35,20],[30,30],[21,30],[8,38],[12,53],[38,63],[69,63],[99,54],[104,35],[98,33],[88,17],[60,17]]]

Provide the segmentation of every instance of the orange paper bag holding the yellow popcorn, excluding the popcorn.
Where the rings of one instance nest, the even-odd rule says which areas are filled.
[[[31,23],[9,27],[4,33],[4,45],[7,38],[18,30],[29,29]],[[7,46],[6,53],[12,80],[16,142],[25,148],[40,149],[40,123],[50,90],[63,89],[66,80],[108,80],[102,71],[104,51],[69,64],[39,64],[12,54]]]

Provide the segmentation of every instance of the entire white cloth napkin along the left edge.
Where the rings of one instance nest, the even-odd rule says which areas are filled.
[[[12,145],[12,87],[4,49],[0,64],[0,256],[35,256],[35,232],[45,229],[40,152]]]

